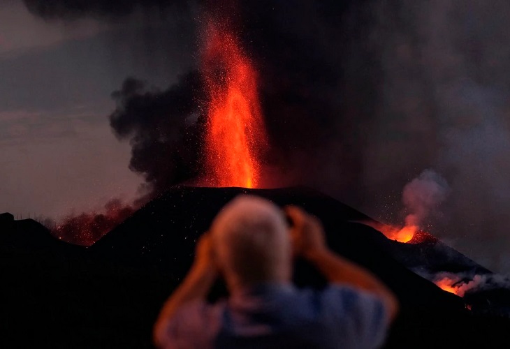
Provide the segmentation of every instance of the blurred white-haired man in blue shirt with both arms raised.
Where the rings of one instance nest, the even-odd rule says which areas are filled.
[[[295,288],[296,256],[311,262],[328,287]],[[207,304],[220,275],[230,297]],[[386,285],[328,249],[319,219],[243,195],[198,241],[189,274],[154,326],[154,341],[159,348],[377,348],[397,313]]]

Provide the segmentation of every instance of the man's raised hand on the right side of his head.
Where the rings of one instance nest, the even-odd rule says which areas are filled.
[[[328,249],[319,218],[297,206],[287,206],[284,211],[293,222],[290,233],[294,255],[309,259]]]

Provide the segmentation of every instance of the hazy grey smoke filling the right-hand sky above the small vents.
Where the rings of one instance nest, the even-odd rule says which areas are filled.
[[[385,200],[401,176],[435,168],[451,195],[432,233],[509,274],[510,3],[378,1],[372,13],[383,73],[365,183]]]

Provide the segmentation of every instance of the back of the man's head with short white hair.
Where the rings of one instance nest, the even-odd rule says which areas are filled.
[[[289,231],[283,211],[269,200],[238,196],[214,218],[211,230],[231,286],[290,279]]]

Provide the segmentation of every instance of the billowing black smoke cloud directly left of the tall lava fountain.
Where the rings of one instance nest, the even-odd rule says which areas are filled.
[[[201,173],[202,91],[201,77],[191,72],[166,91],[129,78],[112,94],[117,109],[110,126],[119,139],[130,140],[129,168],[143,174],[152,194]]]

